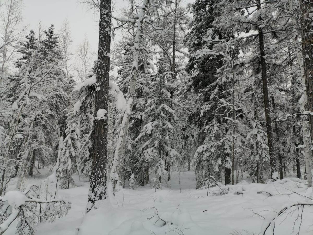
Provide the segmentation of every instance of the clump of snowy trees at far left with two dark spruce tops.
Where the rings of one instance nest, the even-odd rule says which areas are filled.
[[[58,137],[65,131],[62,112],[69,104],[69,80],[54,26],[39,38],[31,30],[26,39],[15,62],[18,72],[8,77],[2,97],[6,106],[1,115],[5,138],[0,194],[14,176],[19,177],[17,187],[23,187],[23,179],[33,175],[35,160],[38,166],[53,163]]]

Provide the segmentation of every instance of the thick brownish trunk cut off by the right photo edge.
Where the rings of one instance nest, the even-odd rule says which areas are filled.
[[[300,20],[301,20],[301,35],[302,35],[302,53],[303,53],[303,68],[304,79],[306,86],[306,98],[308,104],[308,111],[313,112],[313,1],[300,1]],[[308,115],[310,123],[310,137],[313,139],[313,116]],[[304,123],[303,137],[308,135],[307,129]],[[308,179],[308,187],[312,186],[312,159],[310,153],[305,151],[305,166]]]

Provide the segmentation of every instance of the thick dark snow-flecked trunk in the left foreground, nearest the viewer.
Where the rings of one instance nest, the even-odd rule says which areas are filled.
[[[90,177],[90,192],[88,202],[90,208],[96,201],[106,198],[106,165],[108,155],[108,88],[110,71],[111,43],[111,0],[100,1],[99,49],[97,64],[97,87],[95,89],[95,123],[92,149],[92,171]],[[103,115],[97,115],[102,109]],[[100,112],[99,112],[100,114]]]

